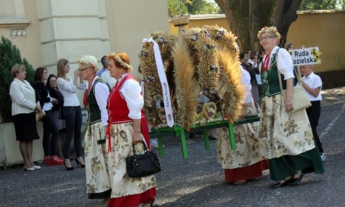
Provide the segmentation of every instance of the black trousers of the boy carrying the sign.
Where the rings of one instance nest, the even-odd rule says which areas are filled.
[[[314,141],[320,153],[323,153],[322,144],[320,141],[320,137],[318,136],[318,120],[320,119],[321,114],[321,103],[320,101],[311,101],[311,106],[307,108],[307,115],[311,125],[311,131],[313,132]]]

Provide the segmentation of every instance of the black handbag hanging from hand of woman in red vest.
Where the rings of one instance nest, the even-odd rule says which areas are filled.
[[[133,144],[133,156],[126,158],[126,171],[130,178],[144,178],[154,175],[161,171],[159,160],[155,152],[147,149],[146,143],[144,145],[144,154],[136,154]]]

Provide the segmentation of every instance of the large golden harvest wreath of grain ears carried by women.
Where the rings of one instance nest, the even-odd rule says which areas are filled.
[[[150,37],[159,45],[175,126],[232,121],[242,114],[245,88],[240,79],[238,46],[231,32],[206,25],[188,29],[177,38],[166,32]],[[166,127],[152,42],[143,43],[139,58],[146,118],[153,128]]]

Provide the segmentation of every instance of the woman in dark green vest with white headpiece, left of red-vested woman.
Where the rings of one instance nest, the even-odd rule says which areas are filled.
[[[89,199],[105,199],[112,192],[107,168],[105,131],[107,129],[107,97],[110,87],[98,77],[97,58],[84,56],[78,59],[81,78],[88,81],[84,106],[88,120],[84,138],[86,188]]]

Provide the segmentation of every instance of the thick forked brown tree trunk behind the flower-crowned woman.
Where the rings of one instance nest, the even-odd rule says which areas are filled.
[[[224,11],[231,32],[238,36],[241,51],[259,49],[257,32],[274,25],[282,35],[280,47],[285,45],[288,29],[297,19],[302,0],[214,0]]]

